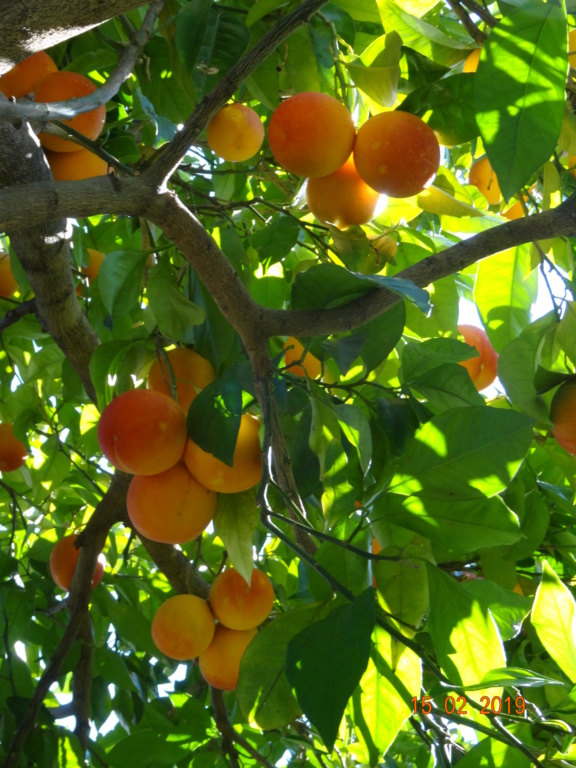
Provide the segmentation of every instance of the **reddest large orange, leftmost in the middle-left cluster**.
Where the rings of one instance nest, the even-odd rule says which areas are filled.
[[[186,414],[171,397],[132,389],[114,398],[98,422],[98,442],[108,461],[123,472],[156,475],[184,453]]]

